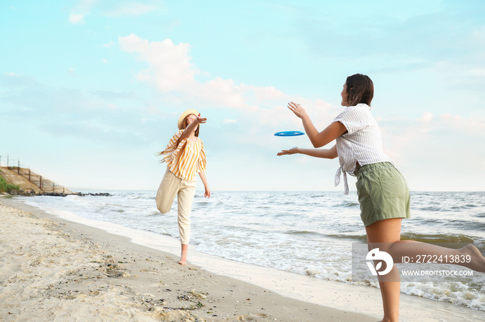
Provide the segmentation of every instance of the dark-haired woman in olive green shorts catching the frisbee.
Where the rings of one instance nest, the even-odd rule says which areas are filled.
[[[335,185],[344,176],[345,194],[349,193],[347,173],[357,176],[360,217],[367,233],[369,250],[379,247],[391,254],[394,263],[400,263],[403,256],[416,254],[430,256],[461,256],[471,258],[470,262],[458,265],[485,272],[485,258],[477,247],[467,245],[461,249],[449,249],[412,240],[400,240],[401,220],[409,218],[409,189],[405,179],[394,167],[392,161],[382,152],[379,126],[372,117],[371,101],[373,83],[367,75],[355,74],[347,77],[342,90],[342,106],[346,108],[333,122],[317,131],[305,109],[293,102],[288,108],[301,118],[308,138],[315,148],[326,146],[335,140],[330,149],[283,150],[278,155],[301,153],[316,158],[339,158],[340,167],[335,175]],[[384,317],[382,321],[398,321],[400,277],[396,265],[386,275],[378,275]]]

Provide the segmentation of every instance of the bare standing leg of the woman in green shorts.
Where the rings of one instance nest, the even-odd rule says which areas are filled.
[[[392,243],[396,243],[398,240],[400,240],[401,220],[402,218],[384,219],[365,227],[369,250],[379,247],[380,251],[388,252],[388,248],[392,245]],[[376,247],[373,247],[373,243],[376,243],[376,245],[374,245]],[[399,271],[396,265],[394,265],[391,272],[385,276],[378,275],[378,281],[380,286],[380,294],[382,296],[382,306],[384,309],[384,317],[382,318],[382,322],[398,322],[400,282],[398,282]]]

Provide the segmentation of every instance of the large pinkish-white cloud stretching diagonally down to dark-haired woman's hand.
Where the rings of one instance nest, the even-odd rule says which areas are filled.
[[[313,106],[315,116],[325,115],[326,119],[329,118],[330,104],[292,97],[272,86],[236,84],[232,79],[221,77],[213,77],[206,82],[198,81],[197,76],[209,74],[193,64],[189,44],[173,44],[170,39],[148,41],[134,34],[119,37],[118,41],[121,50],[134,53],[136,59],[148,63],[148,68],[136,75],[137,79],[152,83],[166,97],[172,95],[171,102],[176,102],[178,98],[198,106],[233,108],[243,113],[244,118],[249,118],[252,124],[277,126],[282,123],[301,124],[282,105],[290,100],[298,100],[302,104]]]

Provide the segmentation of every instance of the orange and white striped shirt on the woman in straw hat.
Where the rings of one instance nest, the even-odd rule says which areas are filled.
[[[206,170],[206,153],[204,143],[200,138],[196,142],[184,139],[177,146],[177,140],[184,133],[180,130],[167,144],[162,155],[168,169],[177,177],[184,180],[195,180],[195,174]]]

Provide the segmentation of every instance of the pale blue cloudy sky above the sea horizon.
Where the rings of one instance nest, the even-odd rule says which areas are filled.
[[[355,73],[410,190],[485,190],[482,0],[2,0],[0,30],[0,163],[75,191],[156,190],[195,108],[211,191],[343,193],[274,133],[303,131],[288,102],[323,130]]]

